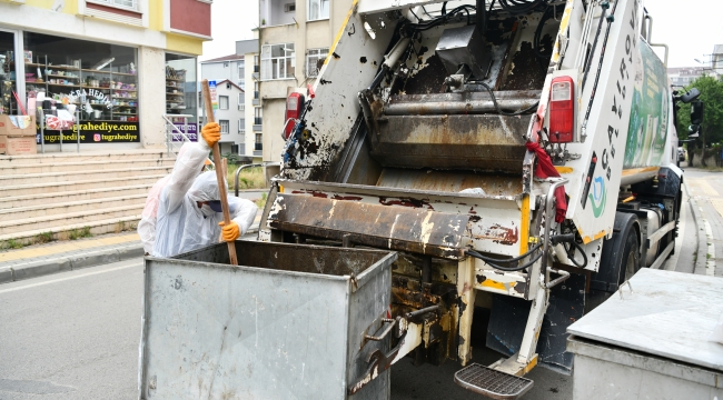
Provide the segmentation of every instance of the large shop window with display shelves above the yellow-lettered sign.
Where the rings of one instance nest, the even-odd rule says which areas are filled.
[[[76,141],[66,133],[77,129],[83,143],[140,142],[135,48],[33,32],[23,42],[28,108],[46,143],[59,142],[61,131]]]

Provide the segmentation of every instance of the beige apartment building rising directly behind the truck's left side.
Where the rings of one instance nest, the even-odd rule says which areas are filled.
[[[280,161],[286,98],[314,83],[350,7],[351,0],[259,0],[264,161]]]

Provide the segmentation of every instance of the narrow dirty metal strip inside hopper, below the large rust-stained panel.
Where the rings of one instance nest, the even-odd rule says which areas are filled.
[[[385,168],[377,186],[398,189],[433,190],[456,193],[464,189],[481,188],[491,196],[522,193],[519,176],[410,170]]]

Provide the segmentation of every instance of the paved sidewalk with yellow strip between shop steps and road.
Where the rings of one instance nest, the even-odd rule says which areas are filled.
[[[259,220],[260,216],[257,216],[241,239],[256,239]],[[143,257],[143,247],[136,232],[33,244],[0,251],[0,284],[139,257]]]

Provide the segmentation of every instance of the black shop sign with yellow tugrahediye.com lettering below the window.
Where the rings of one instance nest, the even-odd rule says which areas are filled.
[[[112,121],[112,122],[80,122],[73,124],[72,129],[62,131],[63,143],[76,143],[78,141],[78,127],[80,127],[81,143],[139,143],[140,133],[138,122]],[[60,142],[60,131],[46,130],[46,144]],[[36,142],[40,144],[40,127],[36,134]]]

